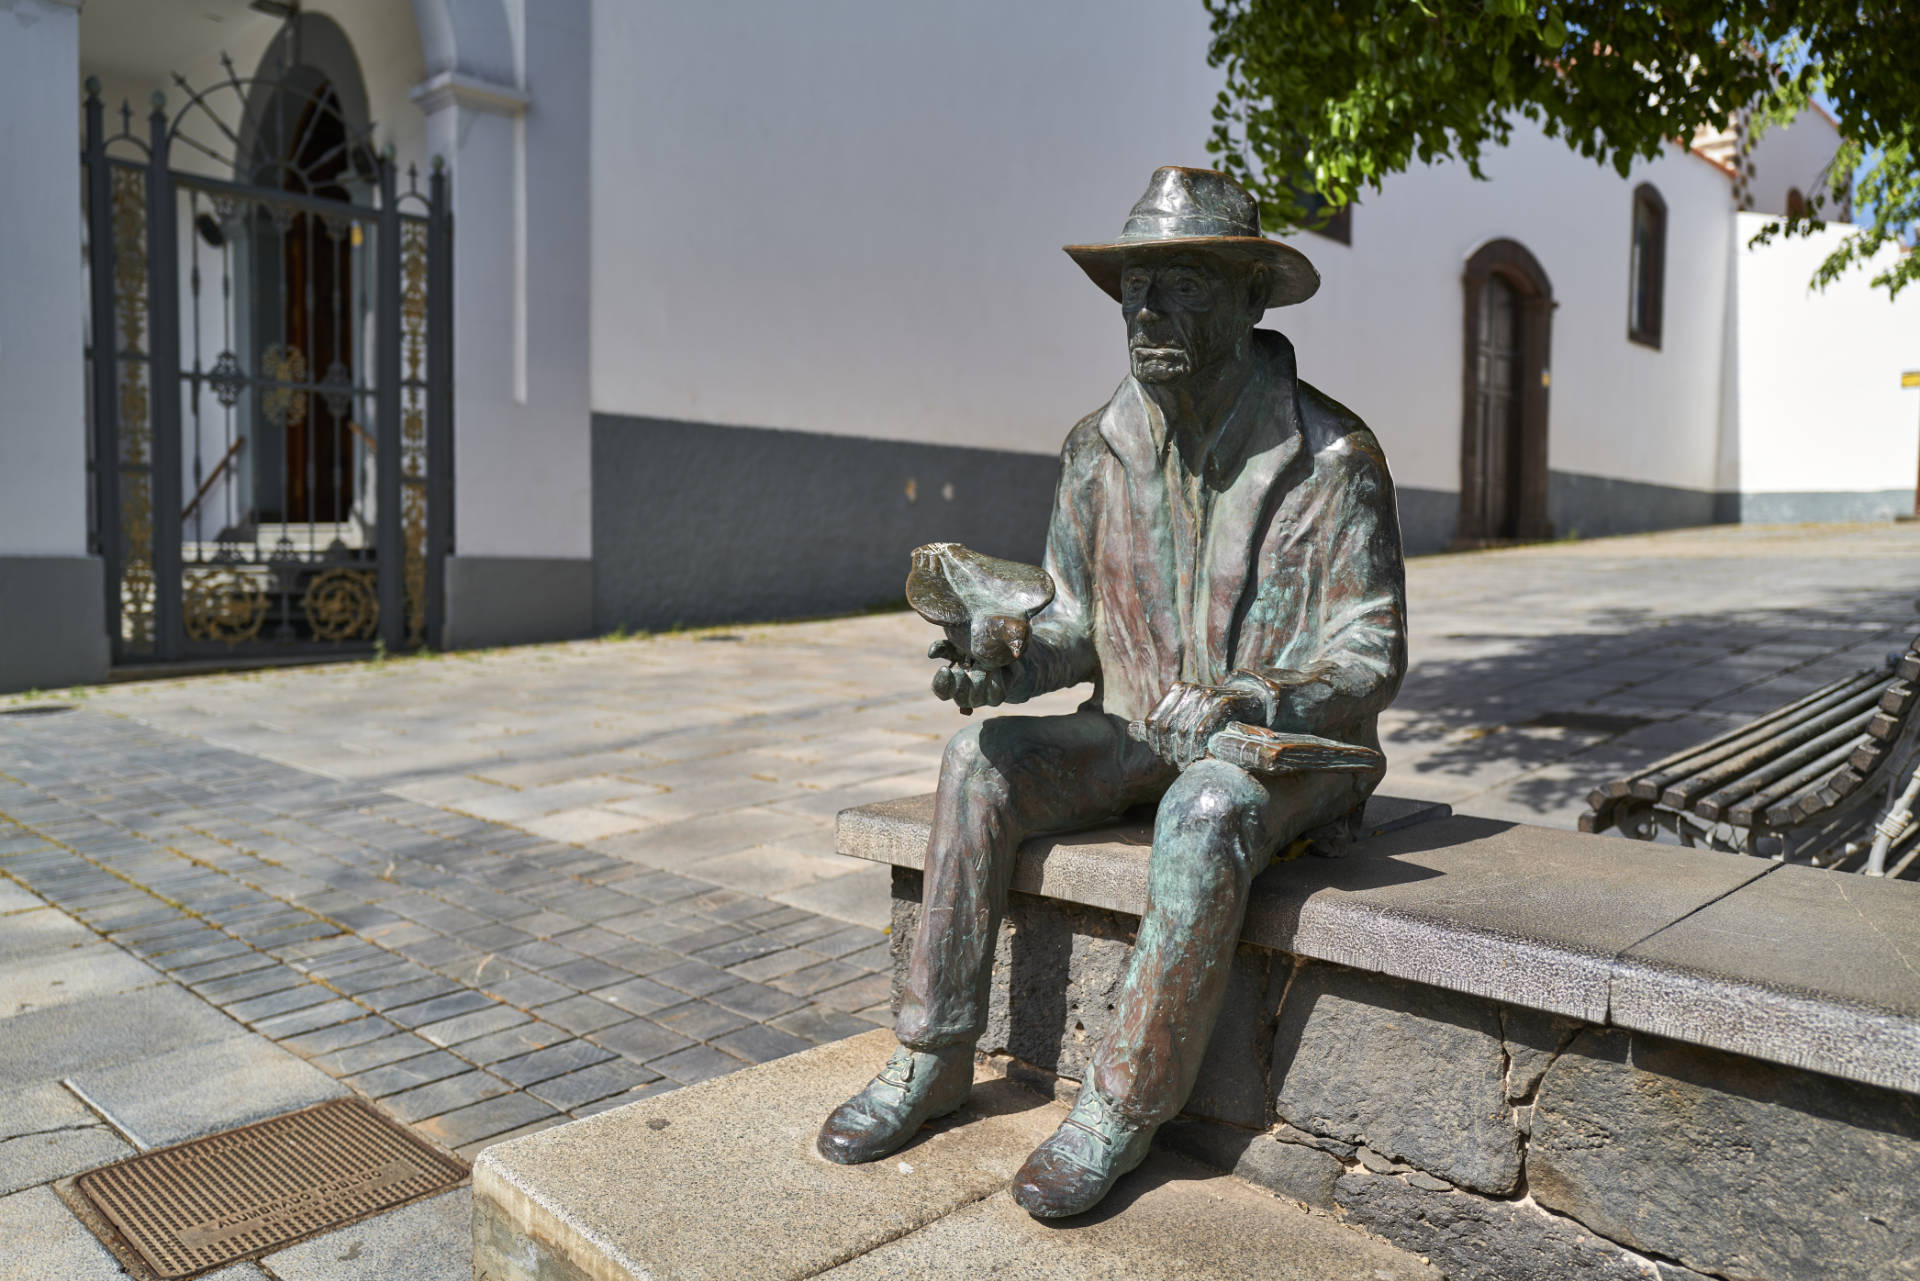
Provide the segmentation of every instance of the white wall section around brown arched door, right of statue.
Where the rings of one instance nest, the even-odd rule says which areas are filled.
[[[1588,476],[1715,488],[1726,175],[1674,150],[1622,181],[1521,123],[1484,159],[1488,182],[1440,163],[1386,181],[1354,209],[1354,246],[1296,244],[1321,269],[1311,302],[1269,313],[1300,369],[1380,434],[1402,486],[1459,488],[1461,273],[1488,240],[1526,246],[1553,284],[1548,465]],[[1667,200],[1659,350],[1626,338],[1632,194]]]

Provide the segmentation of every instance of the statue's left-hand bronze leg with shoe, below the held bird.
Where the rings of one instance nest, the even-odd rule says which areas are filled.
[[[968,1100],[1020,843],[1117,814],[1152,799],[1167,778],[1171,770],[1102,713],[1000,716],[954,734],[941,761],[920,930],[895,1022],[900,1049],[828,1118],[822,1156],[879,1160]]]

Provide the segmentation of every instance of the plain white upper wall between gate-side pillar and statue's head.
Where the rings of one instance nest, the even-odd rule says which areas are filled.
[[[1198,4],[593,4],[593,409],[1054,453],[1125,375],[1060,252],[1206,163]]]

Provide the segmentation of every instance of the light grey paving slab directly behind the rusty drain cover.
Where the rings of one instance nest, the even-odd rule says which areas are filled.
[[[198,1139],[348,1093],[344,1085],[263,1037],[242,1035],[67,1077],[142,1148]]]

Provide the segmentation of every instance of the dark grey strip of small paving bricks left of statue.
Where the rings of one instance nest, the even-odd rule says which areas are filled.
[[[6,718],[0,814],[8,878],[465,1154],[885,1018],[876,930],[98,713]]]

